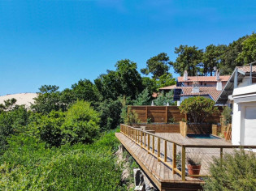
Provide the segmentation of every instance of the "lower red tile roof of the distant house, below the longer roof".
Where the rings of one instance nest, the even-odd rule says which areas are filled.
[[[182,87],[183,93],[180,96],[211,96],[217,100],[221,91],[217,91],[216,87],[199,87],[199,93],[192,93],[193,87]]]

